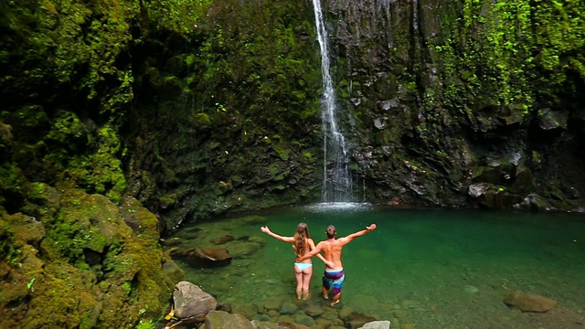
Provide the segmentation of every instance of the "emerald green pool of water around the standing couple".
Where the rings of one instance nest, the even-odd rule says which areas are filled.
[[[262,315],[265,303],[293,300],[295,287],[291,245],[261,233],[261,225],[292,236],[303,221],[315,242],[325,239],[329,224],[338,237],[378,225],[344,249],[346,281],[337,310],[390,320],[393,328],[585,325],[583,215],[380,207],[296,207],[257,215],[194,223],[174,237],[182,241],[179,249],[225,247],[234,255],[229,266],[215,269],[177,263],[187,281],[251,318],[268,319]],[[189,236],[199,229],[196,238]],[[236,241],[225,246],[208,242],[226,234]],[[254,236],[266,244],[246,247],[242,241]],[[314,258],[311,302],[327,309],[320,294],[323,271],[324,264]],[[503,302],[514,290],[537,293],[558,305],[548,313],[521,313]]]

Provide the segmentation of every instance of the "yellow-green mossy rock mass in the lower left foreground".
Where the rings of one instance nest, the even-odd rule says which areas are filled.
[[[161,316],[180,271],[165,276],[154,214],[132,197],[60,200],[41,221],[2,213],[0,326],[131,328]]]

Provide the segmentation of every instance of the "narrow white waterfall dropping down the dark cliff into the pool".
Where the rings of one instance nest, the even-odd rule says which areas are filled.
[[[321,75],[323,78],[323,97],[321,116],[324,130],[324,178],[322,202],[350,202],[352,196],[352,177],[348,168],[346,139],[337,124],[335,90],[329,71],[329,49],[324,27],[321,0],[313,0],[314,22],[321,48]]]

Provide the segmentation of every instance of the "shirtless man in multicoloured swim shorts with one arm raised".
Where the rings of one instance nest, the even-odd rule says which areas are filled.
[[[337,234],[335,226],[329,225],[326,232],[327,239],[319,242],[311,252],[306,253],[303,257],[297,258],[297,261],[307,260],[323,251],[325,260],[332,261],[335,264],[334,268],[325,269],[323,274],[323,297],[324,299],[329,299],[329,289],[333,288],[331,290],[333,293],[333,299],[331,302],[332,307],[339,302],[339,298],[341,297],[341,287],[346,279],[344,266],[341,262],[342,249],[353,239],[361,237],[374,229],[376,229],[376,224],[371,224],[366,229],[352,233],[344,238],[335,239],[335,235]]]

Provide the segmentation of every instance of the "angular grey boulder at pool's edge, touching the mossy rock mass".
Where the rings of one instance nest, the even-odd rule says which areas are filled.
[[[218,302],[197,285],[189,281],[180,281],[176,283],[173,292],[173,306],[176,318],[198,319],[203,322],[206,314],[218,307]]]

